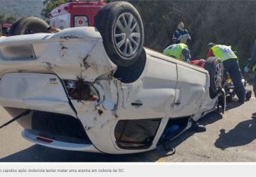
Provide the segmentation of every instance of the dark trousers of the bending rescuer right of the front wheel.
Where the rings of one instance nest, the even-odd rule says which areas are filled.
[[[242,74],[240,72],[238,59],[228,59],[223,62],[224,66],[224,78],[228,77],[230,74],[230,78],[235,87],[235,93],[238,96],[239,102],[245,102],[245,86],[242,84]],[[256,86],[256,85],[255,85]]]

